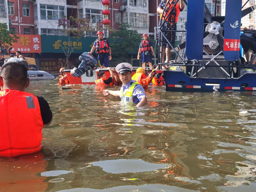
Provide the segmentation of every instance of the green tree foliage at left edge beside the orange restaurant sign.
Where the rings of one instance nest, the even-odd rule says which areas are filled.
[[[10,35],[11,34],[11,35]],[[16,43],[18,36],[15,35],[14,31],[8,31],[6,23],[0,23],[0,48],[8,49],[12,46],[12,43]]]

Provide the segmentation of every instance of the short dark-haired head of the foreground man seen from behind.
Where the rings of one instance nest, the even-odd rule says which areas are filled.
[[[2,66],[0,74],[6,84],[20,84],[25,86],[28,78],[27,67],[18,60],[7,61]]]

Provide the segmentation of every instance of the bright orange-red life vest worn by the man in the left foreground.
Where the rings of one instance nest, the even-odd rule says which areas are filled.
[[[0,156],[18,156],[42,148],[43,120],[37,97],[16,90],[0,91]]]

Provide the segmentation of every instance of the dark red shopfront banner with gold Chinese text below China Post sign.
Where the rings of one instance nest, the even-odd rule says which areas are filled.
[[[68,59],[69,66],[75,65],[75,59]],[[60,68],[67,68],[67,59],[66,58],[42,58],[39,59],[39,70],[45,71],[47,73],[59,73]]]

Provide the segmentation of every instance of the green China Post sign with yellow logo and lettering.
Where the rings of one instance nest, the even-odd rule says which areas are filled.
[[[64,53],[68,51],[68,46],[74,47],[73,53],[90,52],[90,45],[95,38],[84,37],[77,41],[77,38],[66,36],[41,36],[42,53]]]

